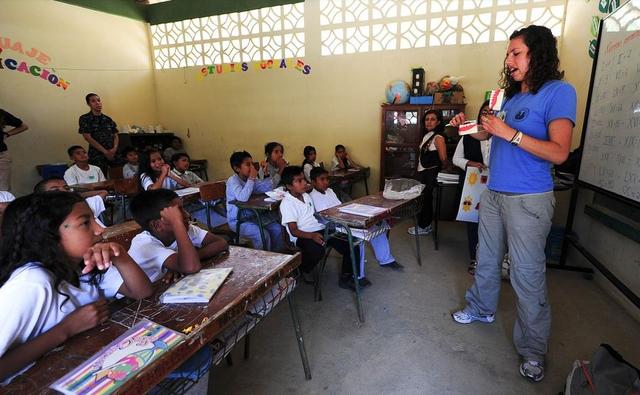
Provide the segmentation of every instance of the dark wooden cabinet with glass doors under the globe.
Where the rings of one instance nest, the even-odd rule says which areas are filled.
[[[383,105],[381,107],[380,189],[387,178],[416,178],[418,147],[425,134],[422,117],[428,110],[442,111],[444,123],[457,113],[464,112],[464,104]],[[455,128],[445,130],[447,155],[453,156],[460,139]]]

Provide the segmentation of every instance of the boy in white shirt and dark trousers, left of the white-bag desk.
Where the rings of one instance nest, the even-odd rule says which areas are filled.
[[[311,196],[305,192],[308,184],[302,168],[300,166],[285,167],[281,180],[288,190],[280,203],[282,225],[287,229],[291,242],[295,243],[302,251],[302,264],[300,265],[302,272],[310,273],[313,270],[324,257],[324,247],[327,244],[342,254],[342,272],[338,286],[355,290],[349,243],[336,238],[330,238],[325,242],[323,238],[324,225],[315,217],[316,210],[313,201]],[[354,248],[353,255],[359,262],[358,249]],[[367,286],[371,285],[371,282],[363,277],[359,280],[359,284]]]

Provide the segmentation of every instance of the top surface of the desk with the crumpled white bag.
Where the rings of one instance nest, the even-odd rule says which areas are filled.
[[[376,192],[371,195],[363,196],[350,202],[343,203],[339,206],[328,208],[321,211],[319,214],[322,218],[332,222],[337,222],[353,228],[367,229],[386,218],[394,216],[399,212],[399,210],[411,204],[415,204],[420,198],[421,197],[417,197],[414,199],[390,200],[385,199],[382,196],[382,192]],[[348,206],[349,204],[353,203],[382,207],[385,208],[386,211],[372,217],[363,217],[361,215],[348,214],[340,211],[341,207]]]

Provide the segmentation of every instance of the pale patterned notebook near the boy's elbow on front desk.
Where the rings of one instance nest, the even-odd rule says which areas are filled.
[[[207,303],[229,276],[230,267],[202,269],[190,274],[160,295],[161,303]]]

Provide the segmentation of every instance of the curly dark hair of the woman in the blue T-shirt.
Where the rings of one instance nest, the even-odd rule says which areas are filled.
[[[522,37],[529,48],[529,70],[525,78],[531,93],[538,92],[547,81],[561,80],[564,77],[564,71],[559,70],[557,41],[549,28],[530,25],[513,32],[509,40],[517,37]],[[500,87],[505,90],[505,96],[513,97],[520,92],[521,84],[511,78],[505,64],[500,76]]]

